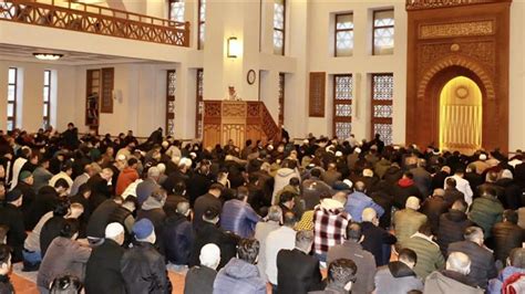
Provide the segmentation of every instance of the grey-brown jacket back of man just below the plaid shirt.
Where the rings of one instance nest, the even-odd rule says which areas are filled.
[[[358,266],[357,280],[352,285],[353,294],[370,293],[373,291],[373,276],[375,275],[375,259],[372,253],[362,249],[361,244],[346,241],[342,244],[330,248],[327,255],[327,264],[339,260],[352,260]]]

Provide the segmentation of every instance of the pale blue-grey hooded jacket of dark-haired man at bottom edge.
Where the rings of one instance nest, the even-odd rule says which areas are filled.
[[[266,294],[266,281],[256,265],[231,259],[217,274],[214,294]]]

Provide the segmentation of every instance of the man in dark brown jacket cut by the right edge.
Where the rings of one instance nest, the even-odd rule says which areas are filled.
[[[495,248],[494,256],[505,264],[511,250],[521,248],[525,242],[525,232],[517,225],[517,213],[507,209],[503,212],[503,221],[492,228]]]

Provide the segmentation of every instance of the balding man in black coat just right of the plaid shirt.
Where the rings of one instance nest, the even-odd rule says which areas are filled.
[[[364,240],[361,245],[372,253],[375,266],[382,266],[390,261],[390,246],[398,242],[395,235],[379,227],[378,213],[373,208],[366,208],[362,213],[361,231]],[[388,249],[388,250],[387,250]]]

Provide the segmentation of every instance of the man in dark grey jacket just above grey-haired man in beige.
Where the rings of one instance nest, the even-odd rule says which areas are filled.
[[[449,255],[452,252],[462,252],[471,259],[472,277],[477,286],[486,288],[488,280],[497,275],[492,252],[483,245],[483,231],[478,227],[469,227],[465,230],[465,241],[449,245]]]

